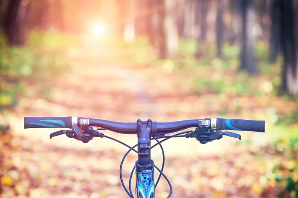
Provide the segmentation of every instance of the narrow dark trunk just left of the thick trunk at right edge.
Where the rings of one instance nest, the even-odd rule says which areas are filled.
[[[270,61],[274,63],[280,51],[281,10],[278,0],[271,1]]]

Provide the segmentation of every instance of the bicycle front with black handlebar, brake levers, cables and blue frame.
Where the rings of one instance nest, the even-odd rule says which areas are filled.
[[[98,128],[99,127],[99,128]],[[191,131],[180,132],[171,136],[165,134],[178,132],[187,128],[194,128]],[[69,128],[71,130],[60,130],[50,134],[50,139],[55,136],[66,134],[69,138],[74,138],[83,143],[88,143],[94,137],[108,138],[116,141],[129,150],[124,155],[120,163],[120,180],[121,184],[130,198],[133,197],[131,190],[131,181],[134,172],[136,172],[136,197],[137,198],[155,198],[155,189],[161,175],[168,182],[170,193],[167,198],[172,195],[172,186],[168,178],[164,175],[165,155],[161,143],[177,137],[196,138],[201,144],[206,144],[214,140],[220,140],[223,136],[233,137],[241,140],[241,136],[229,131],[254,131],[265,132],[265,121],[259,120],[242,120],[242,119],[223,119],[223,118],[205,118],[196,120],[182,120],[175,122],[153,122],[138,120],[136,123],[114,122],[109,120],[101,120],[84,117],[24,117],[24,128]],[[109,130],[122,134],[137,134],[138,144],[133,147],[106,136],[99,132],[101,130]],[[158,141],[158,139],[163,139]],[[151,140],[157,143],[151,147]],[[154,165],[151,159],[150,150],[155,146],[159,146],[162,151],[162,166],[159,169]],[[138,150],[135,148],[138,147]],[[122,178],[123,162],[130,151],[138,153],[138,160],[131,172],[129,178],[129,190],[126,188]],[[154,167],[159,172],[158,179],[154,184]],[[136,170],[136,171],[135,171]]]

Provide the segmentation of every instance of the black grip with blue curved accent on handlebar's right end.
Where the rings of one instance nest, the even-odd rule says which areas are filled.
[[[265,121],[217,118],[216,129],[265,132]]]

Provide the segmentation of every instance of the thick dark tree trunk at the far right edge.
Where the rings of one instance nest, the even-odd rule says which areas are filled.
[[[279,0],[284,56],[282,89],[298,95],[298,0]]]

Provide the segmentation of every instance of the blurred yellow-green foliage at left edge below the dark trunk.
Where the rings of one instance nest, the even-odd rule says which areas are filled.
[[[26,81],[43,81],[59,77],[69,67],[66,49],[74,46],[73,38],[58,33],[31,32],[27,45],[9,47],[0,33],[0,109],[12,108],[26,90]]]

